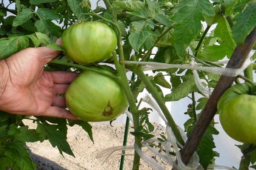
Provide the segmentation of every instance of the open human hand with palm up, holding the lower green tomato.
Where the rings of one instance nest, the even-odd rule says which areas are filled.
[[[60,39],[56,43],[61,45]],[[26,48],[2,60],[2,68],[9,74],[0,93],[0,110],[18,115],[78,119],[64,109],[65,98],[58,94],[64,94],[79,73],[44,71],[44,65],[60,53],[47,47]]]

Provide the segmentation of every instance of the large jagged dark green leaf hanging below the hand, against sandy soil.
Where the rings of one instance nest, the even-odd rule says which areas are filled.
[[[61,155],[63,151],[71,156],[74,156],[70,145],[67,143],[67,137],[64,135],[63,132],[58,130],[58,125],[49,125],[47,122],[38,122],[36,132],[39,133],[41,141],[47,138],[52,144],[52,147],[57,146]]]

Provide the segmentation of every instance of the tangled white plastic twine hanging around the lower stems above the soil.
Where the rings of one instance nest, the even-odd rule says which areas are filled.
[[[203,170],[203,168],[199,164],[199,157],[196,153],[192,155],[192,158],[189,161],[189,164],[186,165],[182,162],[181,160],[181,155],[179,151],[179,147],[182,147],[182,145],[177,141],[175,138],[175,135],[172,131],[172,128],[168,125],[167,120],[163,116],[163,113],[160,111],[160,108],[158,105],[151,99],[150,96],[146,95],[145,98],[143,98],[143,102],[148,103],[154,110],[157,111],[157,113],[160,115],[160,117],[166,122],[166,142],[161,142],[156,138],[151,138],[148,139],[144,142],[142,142],[142,148],[146,147],[147,150],[149,150],[151,153],[153,153],[155,156],[158,156],[162,161],[165,161],[166,163],[169,164],[169,166],[172,166],[176,170]],[[133,119],[131,117],[131,113],[128,113],[128,117],[131,119],[131,122],[133,122]],[[183,140],[186,142],[187,136],[185,132],[178,127],[180,130],[180,134],[183,138]],[[160,143],[162,144],[163,148],[166,150],[166,153],[159,153],[155,148],[151,147],[151,143]],[[122,150],[135,150],[136,153],[140,156],[141,159],[143,159],[150,167],[152,167],[154,170],[165,170],[164,167],[162,167],[155,159],[152,159],[150,156],[146,154],[145,151],[140,149],[136,144],[134,146],[117,146],[117,147],[111,147],[108,149],[103,150],[101,153],[99,153],[96,158],[97,159],[103,159],[102,164],[107,161],[108,159],[113,158],[116,155],[123,155]],[[173,156],[169,154],[170,152],[175,152],[176,156]],[[133,155],[133,154],[128,154],[127,152],[125,153],[126,156],[128,155]],[[177,162],[176,162],[177,161]],[[231,167],[226,167],[226,166],[221,166],[221,165],[215,165],[215,164],[210,164],[207,167],[207,170],[215,170],[215,169],[226,169],[226,170],[236,170]]]

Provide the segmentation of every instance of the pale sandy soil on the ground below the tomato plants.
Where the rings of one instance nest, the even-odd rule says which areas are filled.
[[[76,158],[65,153],[64,157],[61,156],[58,149],[56,147],[53,148],[48,141],[27,143],[32,159],[38,163],[38,170],[119,170],[119,155],[112,156],[112,159],[104,164],[102,164],[103,161],[101,159],[96,159],[96,155],[106,148],[122,145],[125,125],[113,125],[113,127],[110,125],[91,125],[93,126],[94,144],[81,127],[68,128],[67,141]],[[154,127],[153,134],[165,133],[165,127],[159,124],[154,124]],[[132,145],[133,141],[134,136],[129,134],[128,145]],[[153,158],[166,167],[166,170],[171,169],[157,157],[153,156]],[[132,160],[133,156],[125,156],[124,170],[131,170]],[[141,161],[140,169],[153,170],[143,160]]]

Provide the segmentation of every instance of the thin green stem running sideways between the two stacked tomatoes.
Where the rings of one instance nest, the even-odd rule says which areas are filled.
[[[74,64],[74,63],[72,63],[72,62],[62,62],[62,61],[55,61],[55,60],[50,61],[50,63],[52,63],[52,64],[60,64],[60,65],[67,65],[67,66],[73,66],[73,67],[76,67],[76,68],[80,68],[81,70],[93,71],[93,72],[96,72],[96,73],[99,73],[99,74],[102,74],[102,75],[111,77],[111,78],[113,78],[113,79],[119,81],[119,77],[114,76],[114,75],[112,75],[112,74],[105,73],[105,72],[103,72],[103,71],[99,71],[99,70],[97,70],[97,69],[95,69],[95,68],[85,67],[85,66],[83,66],[83,65]]]

